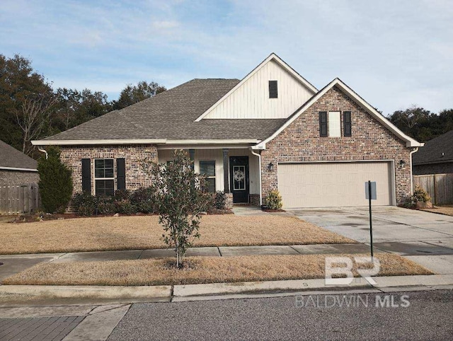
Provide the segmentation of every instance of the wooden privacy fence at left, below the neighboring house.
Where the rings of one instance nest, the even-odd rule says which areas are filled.
[[[31,214],[39,205],[37,183],[0,185],[0,214]]]

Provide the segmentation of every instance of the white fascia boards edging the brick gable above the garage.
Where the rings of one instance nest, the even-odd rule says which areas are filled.
[[[384,127],[388,128],[391,132],[393,132],[397,137],[399,137],[403,141],[406,141],[406,146],[407,147],[423,146],[423,144],[421,144],[420,142],[415,141],[415,139],[413,139],[411,137],[408,137],[406,134],[401,132],[400,129],[398,129],[389,120],[387,120],[384,116],[382,116],[376,109],[374,109],[371,105],[369,105],[363,98],[361,98],[359,95],[357,95],[357,93],[355,93],[355,91],[353,91],[349,86],[347,86],[345,83],[343,83],[343,81],[340,81],[340,79],[336,78],[333,81],[331,81],[331,83],[328,83],[328,85],[325,86],[323,89],[321,89],[321,91],[319,91],[319,93],[316,93],[316,96],[313,96],[304,105],[302,105],[302,108],[300,108],[297,112],[295,112],[294,115],[292,115],[292,117],[289,120],[287,120],[287,122],[285,122],[285,124],[282,125],[282,127],[277,129],[277,131],[274,134],[272,134],[270,137],[268,137],[267,139],[265,139],[262,142],[260,142],[260,144],[255,146],[253,149],[265,149],[265,144],[266,143],[268,143],[269,141],[272,141],[273,139],[275,139],[275,137],[278,134],[280,134],[280,132],[282,132],[292,122],[294,122],[294,120],[296,120],[297,117],[302,115],[302,113],[305,110],[310,108],[311,105],[313,105],[316,102],[316,100],[319,100],[319,98],[321,98],[323,95],[325,95],[327,93],[327,91],[329,91],[331,88],[333,88],[333,86],[339,86],[340,88],[342,88],[343,91],[345,91],[345,93],[348,93],[348,95],[353,100],[355,100],[355,102],[358,105],[362,106],[362,108],[367,110],[367,112],[369,112],[369,114],[371,114],[382,125],[384,125]]]

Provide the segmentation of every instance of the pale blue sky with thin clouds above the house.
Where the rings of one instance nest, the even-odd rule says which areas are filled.
[[[339,77],[388,115],[453,108],[453,1],[0,0],[0,53],[54,87],[238,78],[270,52],[322,88]]]

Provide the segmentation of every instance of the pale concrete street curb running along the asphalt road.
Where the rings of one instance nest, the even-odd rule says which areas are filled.
[[[198,299],[244,298],[246,296],[290,296],[304,292],[414,291],[452,289],[453,274],[372,277],[374,284],[356,278],[350,284],[326,285],[325,279],[292,279],[267,282],[237,282],[166,286],[52,286],[1,285],[0,306],[21,304],[57,305],[169,302]]]

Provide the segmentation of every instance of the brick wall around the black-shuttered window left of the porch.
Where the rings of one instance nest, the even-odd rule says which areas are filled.
[[[82,158],[91,159],[91,193],[94,195],[94,159],[95,158],[125,158],[126,189],[137,190],[151,185],[151,179],[142,171],[140,163],[147,158],[157,161],[157,147],[152,145],[127,146],[60,146],[62,162],[72,170],[74,193],[82,191]],[[116,161],[115,190],[117,188]]]

